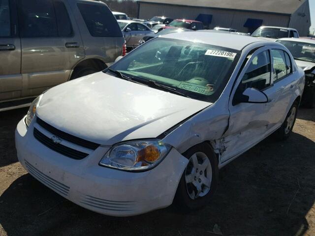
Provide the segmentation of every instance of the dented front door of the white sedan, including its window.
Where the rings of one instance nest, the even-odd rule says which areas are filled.
[[[271,106],[268,103],[235,103],[238,93],[247,88],[263,91],[267,97],[273,97],[273,81],[270,51],[268,47],[256,50],[240,73],[229,102],[229,126],[221,140],[221,162],[251,148],[271,132],[275,124],[271,122]]]

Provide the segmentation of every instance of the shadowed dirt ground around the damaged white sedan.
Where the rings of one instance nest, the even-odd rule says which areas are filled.
[[[221,170],[212,204],[115,218],[78,207],[17,162],[14,130],[26,109],[0,113],[0,235],[315,236],[315,109],[300,109],[286,142],[272,137]],[[217,226],[215,226],[217,225]]]

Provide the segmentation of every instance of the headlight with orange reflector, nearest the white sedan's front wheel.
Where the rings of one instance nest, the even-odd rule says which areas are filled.
[[[157,166],[171,146],[158,140],[121,143],[112,147],[99,165],[124,171],[145,171]]]

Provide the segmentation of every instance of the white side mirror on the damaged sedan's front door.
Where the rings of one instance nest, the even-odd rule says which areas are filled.
[[[253,88],[247,88],[243,93],[236,92],[234,99],[233,99],[233,105],[239,104],[239,103],[267,103],[268,97],[267,95],[259,91],[258,89]]]

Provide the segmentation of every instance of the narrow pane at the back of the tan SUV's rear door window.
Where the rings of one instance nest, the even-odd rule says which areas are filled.
[[[58,35],[60,37],[68,37],[72,35],[72,26],[69,15],[62,1],[54,1],[56,10]]]

